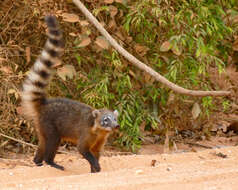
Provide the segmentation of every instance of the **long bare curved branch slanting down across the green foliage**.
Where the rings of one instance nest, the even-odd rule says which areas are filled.
[[[126,59],[128,59],[133,65],[139,69],[147,72],[149,75],[154,77],[157,81],[166,85],[168,88],[176,93],[188,95],[188,96],[228,96],[229,91],[200,91],[200,90],[189,90],[182,88],[170,81],[165,77],[161,76],[159,73],[139,61],[136,57],[127,52],[123,47],[121,47],[116,40],[114,40],[111,35],[102,27],[102,25],[97,21],[97,19],[88,11],[88,9],[79,0],[73,0],[74,4],[82,11],[82,13],[88,18],[88,20],[99,30],[99,32],[109,41],[109,43]]]

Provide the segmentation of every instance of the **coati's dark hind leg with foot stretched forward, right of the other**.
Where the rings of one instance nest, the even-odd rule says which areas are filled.
[[[56,131],[48,135],[45,142],[45,155],[44,160],[46,164],[50,165],[51,167],[64,170],[63,166],[60,166],[54,162],[54,158],[60,144],[60,136],[57,134]]]

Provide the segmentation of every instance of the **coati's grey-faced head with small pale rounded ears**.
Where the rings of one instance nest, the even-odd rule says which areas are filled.
[[[95,126],[105,131],[112,131],[118,129],[120,125],[117,122],[119,115],[118,111],[110,111],[107,109],[93,110],[93,117],[95,118]]]

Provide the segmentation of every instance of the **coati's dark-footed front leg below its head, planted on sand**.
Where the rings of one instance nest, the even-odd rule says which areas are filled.
[[[91,166],[91,173],[96,173],[101,171],[100,164],[98,162],[98,158],[92,154],[90,151],[89,143],[86,139],[81,138],[78,143],[78,150],[82,154],[82,156],[89,162]]]

